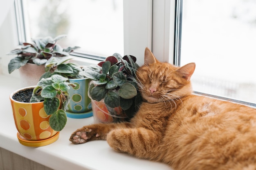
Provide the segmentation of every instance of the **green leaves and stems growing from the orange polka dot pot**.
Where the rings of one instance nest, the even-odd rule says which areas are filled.
[[[57,74],[52,75],[37,83],[30,99],[30,102],[43,101],[45,113],[51,115],[49,125],[55,131],[61,131],[67,122],[65,110],[70,101],[67,92],[70,86],[75,87],[74,84],[68,82],[68,78]]]

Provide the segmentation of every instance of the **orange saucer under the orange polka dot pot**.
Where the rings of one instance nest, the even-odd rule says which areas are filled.
[[[30,146],[30,147],[39,147],[39,146],[45,146],[45,145],[52,144],[53,142],[55,142],[58,139],[59,134],[60,134],[60,132],[57,132],[54,136],[49,137],[47,139],[43,139],[43,140],[27,140],[24,137],[22,137],[20,135],[20,133],[17,133],[17,137],[18,137],[20,144],[22,144],[22,145]]]

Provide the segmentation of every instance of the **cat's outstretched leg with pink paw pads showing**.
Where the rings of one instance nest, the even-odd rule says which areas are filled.
[[[128,128],[130,123],[111,123],[111,124],[91,124],[77,129],[70,136],[70,141],[73,144],[83,144],[91,140],[106,140],[106,135],[109,131],[116,128]]]

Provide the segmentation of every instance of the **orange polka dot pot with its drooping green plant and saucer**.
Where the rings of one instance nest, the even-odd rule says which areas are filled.
[[[37,86],[19,89],[10,95],[21,144],[45,146],[58,139],[58,131],[67,122],[65,109],[70,100],[67,92],[70,86],[73,84],[67,78],[53,75],[43,78]],[[20,96],[22,99],[18,100]]]

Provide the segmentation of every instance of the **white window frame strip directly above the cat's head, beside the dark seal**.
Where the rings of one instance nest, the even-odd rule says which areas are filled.
[[[175,58],[175,0],[153,0],[152,34],[152,52],[155,57],[159,61],[173,63]]]

